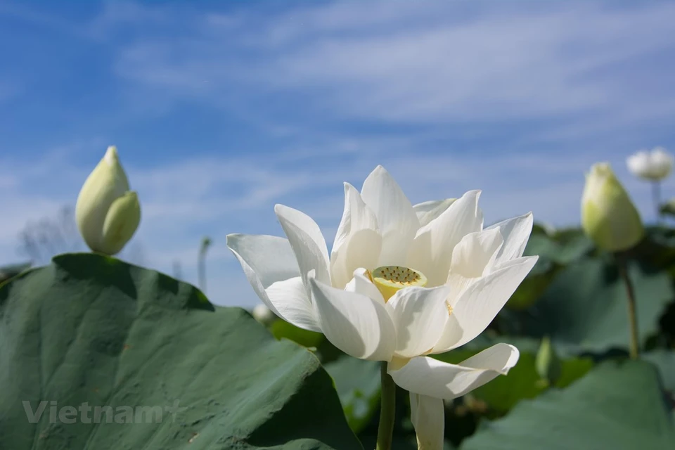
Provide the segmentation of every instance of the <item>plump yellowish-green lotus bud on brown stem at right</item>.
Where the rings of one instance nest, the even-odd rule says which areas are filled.
[[[634,247],[645,234],[638,210],[606,162],[586,174],[581,226],[598,247],[610,252]]]

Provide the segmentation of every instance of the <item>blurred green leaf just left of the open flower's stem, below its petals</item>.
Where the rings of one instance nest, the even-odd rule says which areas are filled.
[[[324,367],[335,380],[349,427],[360,432],[380,408],[380,363],[342,356]]]

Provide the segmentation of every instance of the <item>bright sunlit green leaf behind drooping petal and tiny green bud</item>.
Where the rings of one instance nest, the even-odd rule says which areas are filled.
[[[515,367],[511,368],[507,375],[500,375],[486,385],[473,390],[471,394],[480,401],[484,401],[488,407],[489,416],[503,416],[522,399],[531,399],[546,390],[546,384],[536,373],[535,353],[532,349],[539,345],[533,340],[503,338],[503,342],[510,342],[520,349],[520,358]],[[522,344],[522,345],[519,345]],[[482,349],[464,348],[453,350],[444,354],[434,355],[436,359],[451,364],[477,354]],[[593,361],[589,358],[562,359],[562,372],[560,378],[555,380],[556,387],[566,387],[579,378],[583,377],[593,367]]]

